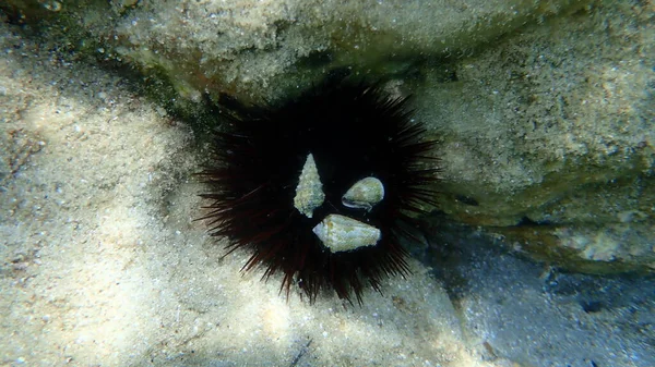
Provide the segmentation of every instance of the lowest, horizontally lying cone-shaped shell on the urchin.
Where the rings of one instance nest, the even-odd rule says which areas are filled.
[[[379,229],[340,215],[325,217],[312,231],[332,253],[372,246],[381,237]]]

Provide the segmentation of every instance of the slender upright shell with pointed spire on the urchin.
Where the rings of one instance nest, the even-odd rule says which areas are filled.
[[[311,218],[314,209],[323,205],[324,199],[325,194],[323,194],[323,184],[319,176],[319,170],[317,169],[313,156],[309,154],[302,167],[302,172],[300,172],[298,186],[296,186],[294,207],[307,218]]]

